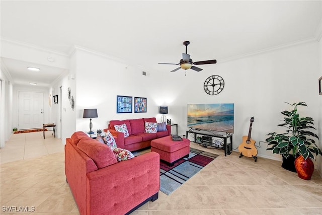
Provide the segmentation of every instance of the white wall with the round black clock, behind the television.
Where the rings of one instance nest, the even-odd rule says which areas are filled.
[[[155,98],[168,99],[169,117],[179,124],[179,134],[187,129],[187,103],[234,103],[235,120],[233,148],[241,143],[241,137],[248,135],[250,118],[255,117],[252,138],[261,141],[258,155],[280,160],[279,155],[266,151],[266,134],[278,131],[283,110],[291,106],[284,102],[306,102],[308,107],[299,112],[318,120],[316,93],[318,69],[317,43],[307,43],[271,51],[234,61],[203,65],[203,71],[183,70],[176,73],[162,73],[154,78]],[[171,70],[170,68],[168,70]],[[215,96],[203,90],[204,81],[211,75],[219,75],[225,81],[223,91]],[[162,80],[157,82],[157,80]],[[316,122],[317,126],[317,122]],[[316,127],[317,128],[317,127]]]

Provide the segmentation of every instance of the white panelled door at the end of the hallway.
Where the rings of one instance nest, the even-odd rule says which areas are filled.
[[[43,93],[19,91],[19,130],[42,128]]]

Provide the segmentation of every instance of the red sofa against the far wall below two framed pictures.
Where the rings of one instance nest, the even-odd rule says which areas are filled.
[[[109,130],[113,136],[117,147],[127,149],[131,152],[151,146],[151,140],[171,135],[171,125],[167,125],[166,131],[157,131],[156,133],[144,133],[145,122],[156,122],[155,117],[140,118],[140,119],[125,119],[125,120],[111,120],[106,132]],[[124,137],[124,133],[115,130],[114,125],[126,124],[129,132],[128,137]]]

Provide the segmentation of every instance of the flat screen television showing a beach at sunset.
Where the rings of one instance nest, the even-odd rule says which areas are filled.
[[[234,104],[188,104],[188,127],[233,133]]]

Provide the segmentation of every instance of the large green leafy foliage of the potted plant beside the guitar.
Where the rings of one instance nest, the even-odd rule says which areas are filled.
[[[287,103],[287,102],[286,102]],[[307,106],[305,102],[294,104],[287,103],[293,106],[293,110],[285,110],[281,112],[285,117],[283,123],[277,126],[286,127],[285,133],[271,132],[266,139],[268,147],[266,150],[273,150],[273,154],[280,154],[285,158],[289,156],[297,157],[302,155],[304,159],[311,158],[315,160],[314,154],[322,155],[321,150],[316,146],[315,140],[318,136],[309,131],[315,129],[313,127],[313,119],[311,117],[300,117],[297,113],[297,106]]]

